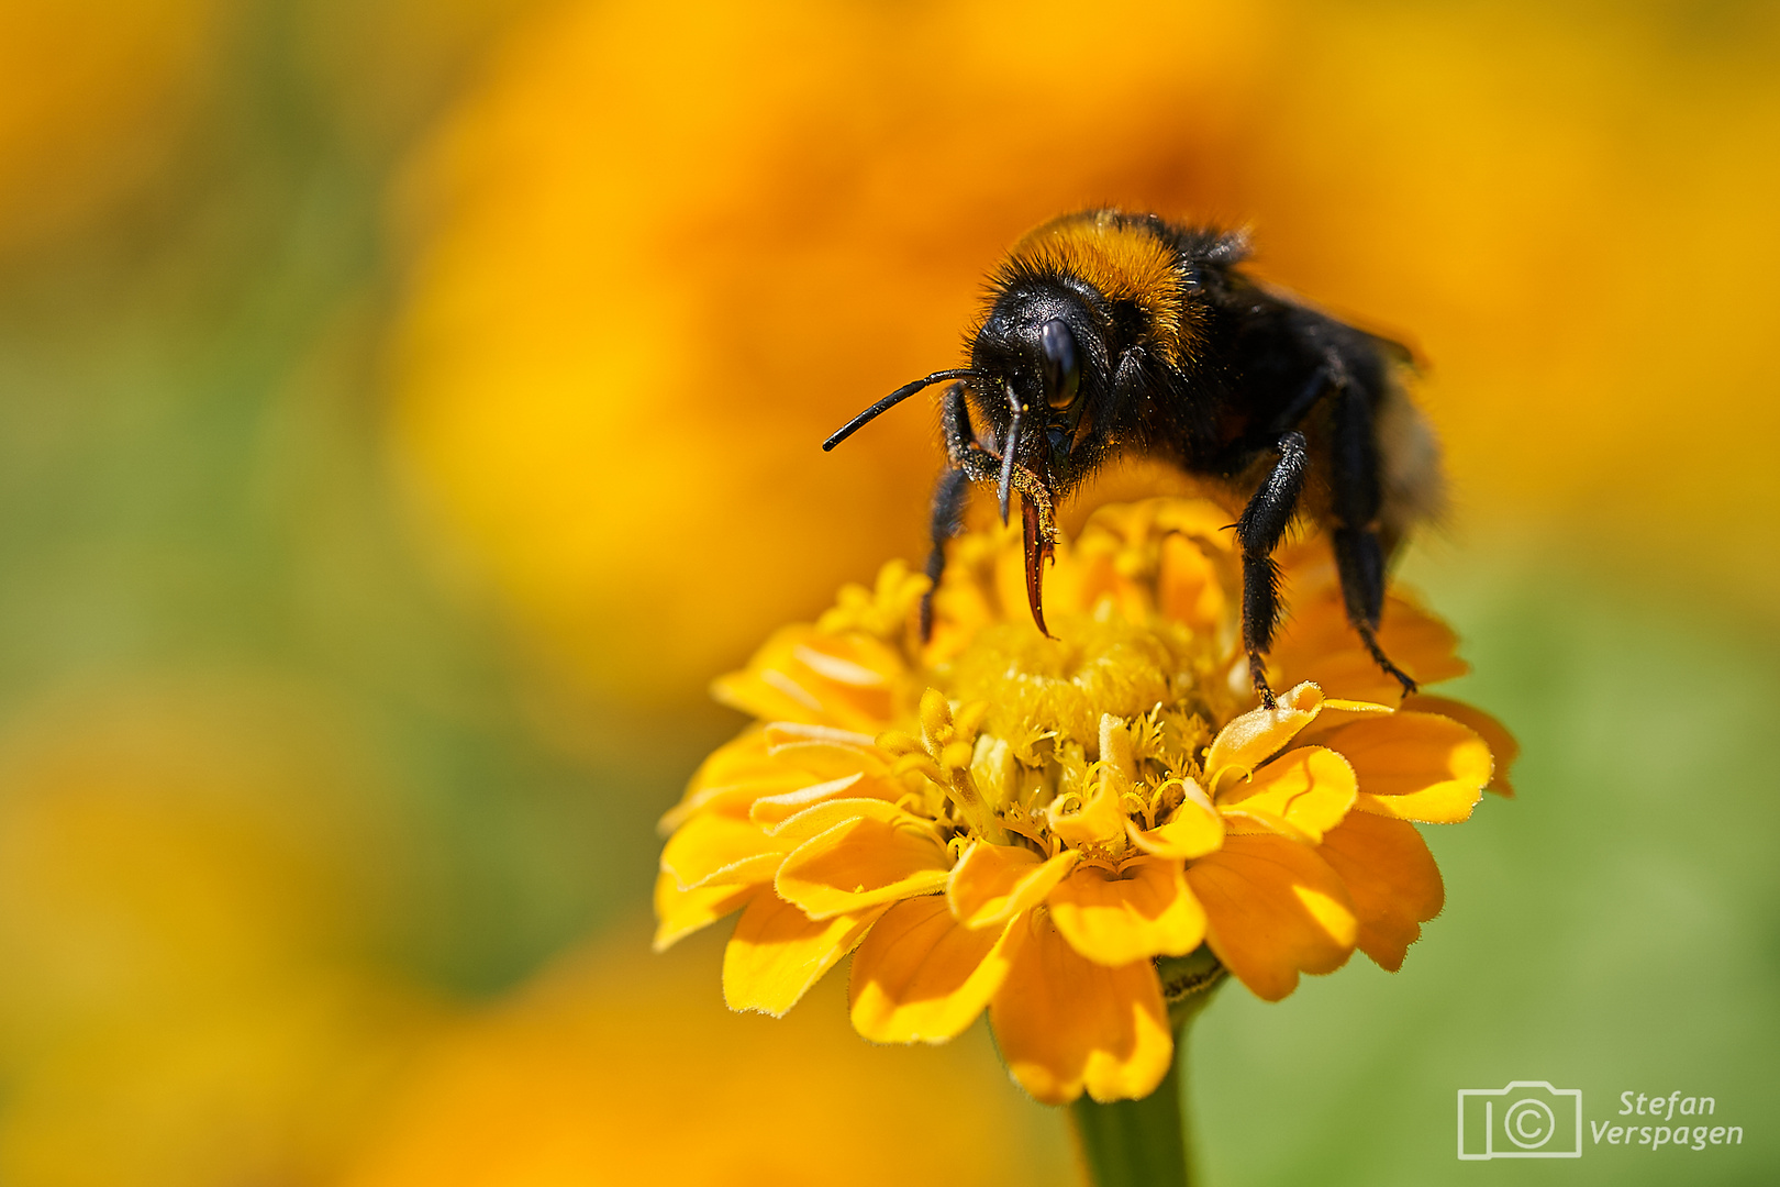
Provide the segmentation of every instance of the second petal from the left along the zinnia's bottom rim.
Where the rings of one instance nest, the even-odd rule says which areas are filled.
[[[783,1016],[886,909],[812,920],[774,893],[755,895],[723,950],[723,1000]]]

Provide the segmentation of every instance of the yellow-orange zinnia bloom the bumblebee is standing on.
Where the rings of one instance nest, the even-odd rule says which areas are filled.
[[[926,578],[899,562],[780,630],[716,685],[758,721],[662,822],[657,947],[740,909],[724,997],[769,1014],[856,949],[862,1036],[942,1043],[988,1009],[1047,1103],[1162,1080],[1157,957],[1209,945],[1267,1000],[1355,947],[1399,968],[1444,897],[1412,820],[1467,819],[1506,733],[1394,703],[1323,545],[1282,557],[1287,692],[1257,707],[1226,521],[1173,498],[1096,513],[1057,545],[1054,639],[1004,530],[954,543],[926,644]],[[1380,637],[1424,683],[1465,671],[1401,594]]]

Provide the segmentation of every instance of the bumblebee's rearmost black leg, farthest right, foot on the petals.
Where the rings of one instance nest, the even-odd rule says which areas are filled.
[[[1390,662],[1378,646],[1378,621],[1385,610],[1385,552],[1378,543],[1378,440],[1365,393],[1342,384],[1335,395],[1333,518],[1335,569],[1340,573],[1347,621],[1380,667],[1415,692],[1415,680]]]

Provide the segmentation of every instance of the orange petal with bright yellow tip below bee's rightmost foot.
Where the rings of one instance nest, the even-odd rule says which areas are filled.
[[[1342,726],[1326,742],[1360,778],[1362,812],[1454,824],[1470,817],[1490,783],[1490,747],[1438,714],[1396,712]]]

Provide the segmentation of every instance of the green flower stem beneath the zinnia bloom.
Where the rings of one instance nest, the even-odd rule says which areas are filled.
[[[1143,1100],[1098,1103],[1088,1096],[1070,1105],[1075,1141],[1088,1167],[1089,1187],[1191,1187],[1198,1178],[1180,1109],[1185,1080],[1187,1032],[1225,979],[1207,949],[1157,963],[1175,1030],[1175,1059],[1168,1075]]]

